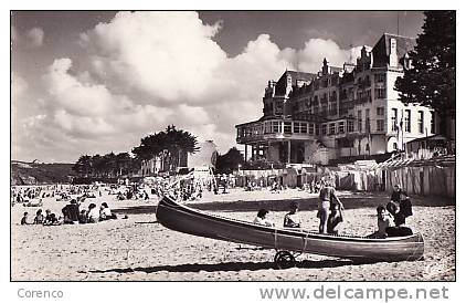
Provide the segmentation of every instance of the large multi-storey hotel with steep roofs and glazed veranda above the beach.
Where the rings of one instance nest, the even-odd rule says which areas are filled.
[[[431,108],[404,105],[394,84],[410,69],[415,39],[383,34],[356,64],[321,71],[286,71],[269,81],[263,117],[236,125],[245,157],[286,164],[329,164],[402,150],[407,142],[435,134]],[[251,148],[248,148],[251,146]]]

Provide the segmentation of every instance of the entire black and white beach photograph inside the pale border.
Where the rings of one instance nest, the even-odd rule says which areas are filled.
[[[10,11],[10,282],[456,281],[456,11],[265,9]]]

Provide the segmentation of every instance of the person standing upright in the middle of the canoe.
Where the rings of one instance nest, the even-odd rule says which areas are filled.
[[[325,180],[324,187],[320,189],[319,194],[320,205],[317,212],[317,217],[320,219],[319,223],[319,233],[328,233],[328,221],[330,218],[330,206],[333,206],[330,231],[333,231],[335,227],[339,223],[337,222],[337,216],[339,210],[343,209],[343,205],[340,199],[337,197],[335,188],[330,185],[330,181]]]

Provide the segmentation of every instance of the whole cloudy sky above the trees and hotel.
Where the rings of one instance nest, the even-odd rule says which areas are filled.
[[[396,27],[399,19],[399,28]],[[268,80],[341,66],[382,33],[417,36],[420,11],[11,13],[11,158],[74,163],[130,152],[176,125],[235,146]]]

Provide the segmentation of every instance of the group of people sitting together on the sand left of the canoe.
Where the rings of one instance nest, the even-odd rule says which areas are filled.
[[[62,208],[63,216],[57,217],[50,209],[42,209],[35,212],[33,222],[29,221],[29,212],[24,212],[21,218],[21,224],[42,224],[42,226],[60,226],[60,224],[85,224],[97,223],[109,219],[116,219],[116,215],[112,212],[107,202],[103,202],[99,208],[95,203],[89,203],[87,209],[80,210],[80,203],[76,199],[72,199],[68,205]]]

